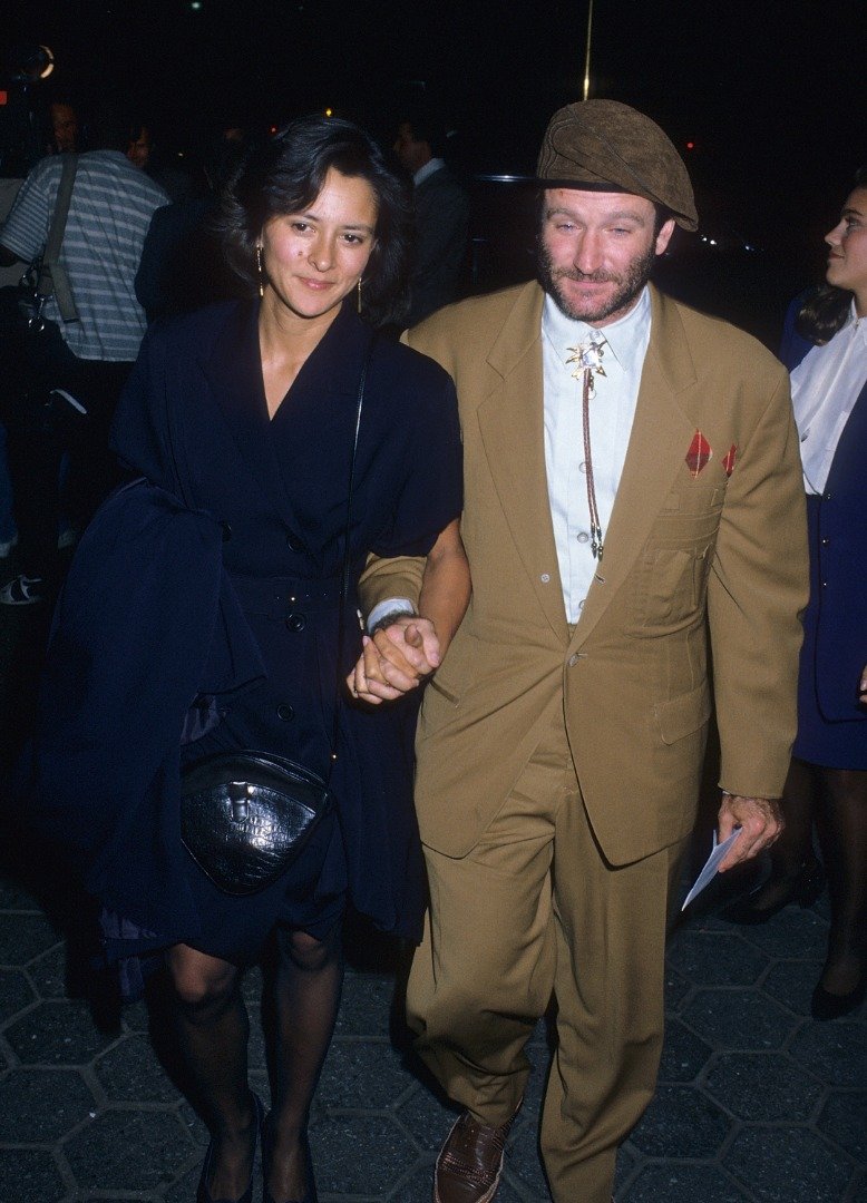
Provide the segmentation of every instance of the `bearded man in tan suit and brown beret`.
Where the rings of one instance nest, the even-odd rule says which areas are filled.
[[[539,283],[408,334],[458,385],[473,581],[417,746],[431,906],[408,1017],[465,1108],[437,1203],[494,1198],[552,991],[552,1196],[608,1203],[655,1086],[667,899],[712,707],[719,836],[742,828],[725,867],[779,832],[795,733],[807,562],[786,373],[648,285],[674,224],[697,225],[659,126],[570,105],[538,174]],[[399,614],[415,588],[371,564],[364,697],[427,668],[424,623]]]

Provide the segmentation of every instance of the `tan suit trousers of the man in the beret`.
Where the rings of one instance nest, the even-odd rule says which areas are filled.
[[[407,1014],[448,1095],[499,1125],[520,1104],[524,1045],[554,992],[542,1119],[553,1198],[609,1203],[617,1148],[655,1088],[667,897],[683,845],[612,869],[586,819],[561,707],[544,729],[472,852],[425,848],[431,909]]]

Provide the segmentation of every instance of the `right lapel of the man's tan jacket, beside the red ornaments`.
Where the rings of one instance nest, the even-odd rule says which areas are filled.
[[[683,322],[673,302],[654,288],[651,307],[650,343],[626,461],[604,534],[604,555],[574,633],[576,646],[596,626],[647,543],[677,474],[684,470],[695,434],[685,402],[696,371]]]

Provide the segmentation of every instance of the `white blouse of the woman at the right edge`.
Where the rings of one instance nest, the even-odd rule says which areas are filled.
[[[804,355],[791,381],[804,488],[818,496],[825,491],[837,443],[867,381],[867,318],[857,316],[855,301],[843,328]]]

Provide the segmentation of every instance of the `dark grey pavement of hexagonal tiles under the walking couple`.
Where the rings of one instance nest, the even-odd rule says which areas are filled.
[[[7,759],[43,635],[31,610],[0,615]],[[106,983],[82,977],[64,937],[75,896],[46,890],[45,866],[23,860],[12,841],[0,867],[0,1203],[193,1203],[207,1134],[173,1084],[159,997],[120,1009]],[[867,1005],[832,1023],[809,1015],[827,896],[731,926],[720,911],[748,885],[718,879],[672,930],[659,1089],[620,1150],[618,1203],[867,1203]],[[454,1113],[402,1038],[400,950],[355,925],[347,953],[311,1122],[319,1197],[430,1203]],[[260,989],[250,971],[252,1084],[266,1097]],[[544,1024],[530,1055],[499,1203],[549,1199],[537,1150]]]

